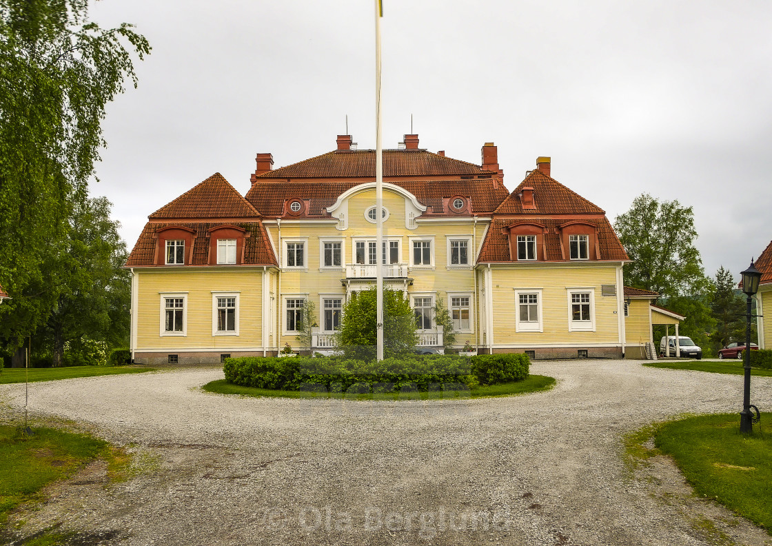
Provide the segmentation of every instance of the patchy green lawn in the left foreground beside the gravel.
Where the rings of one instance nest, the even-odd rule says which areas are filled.
[[[107,453],[108,444],[90,436],[35,427],[23,439],[15,427],[0,426],[0,522],[48,483]]]

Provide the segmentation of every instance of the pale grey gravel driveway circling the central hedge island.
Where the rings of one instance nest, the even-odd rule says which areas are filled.
[[[531,371],[558,385],[344,402],[198,390],[222,378],[218,368],[32,383],[33,414],[80,422],[146,464],[110,486],[87,470],[20,529],[61,523],[90,531],[89,544],[186,546],[772,543],[692,497],[664,457],[635,475],[621,458],[621,437],[647,423],[739,411],[740,375],[608,360]],[[770,395],[772,378],[754,377],[753,402],[768,409]],[[24,385],[0,386],[0,402],[6,421],[12,408],[18,416]]]

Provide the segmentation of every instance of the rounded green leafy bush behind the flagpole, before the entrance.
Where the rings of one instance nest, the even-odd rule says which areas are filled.
[[[343,309],[337,344],[353,358],[375,358],[376,289],[352,292]],[[384,290],[384,358],[409,353],[418,344],[410,300],[399,290]]]

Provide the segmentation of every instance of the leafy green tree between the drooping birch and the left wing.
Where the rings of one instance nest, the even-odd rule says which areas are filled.
[[[41,332],[52,344],[54,366],[62,365],[67,342],[127,346],[131,280],[110,206],[104,197],[77,204],[69,236],[49,255],[46,273],[58,296]]]

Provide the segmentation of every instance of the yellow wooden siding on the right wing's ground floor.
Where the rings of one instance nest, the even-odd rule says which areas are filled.
[[[501,345],[613,344],[619,342],[617,298],[601,295],[602,284],[615,284],[613,266],[493,266],[493,343]],[[595,331],[568,331],[568,290],[593,287]],[[541,288],[543,332],[516,332],[514,289]]]

